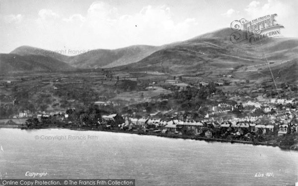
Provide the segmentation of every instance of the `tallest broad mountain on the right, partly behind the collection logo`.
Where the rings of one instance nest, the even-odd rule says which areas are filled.
[[[129,71],[160,71],[177,75],[215,78],[221,74],[258,69],[264,63],[298,59],[298,39],[270,38],[259,44],[234,44],[230,28],[168,45],[140,62],[116,67]],[[263,66],[264,67],[264,66]],[[242,73],[243,74],[243,73]],[[238,73],[239,78],[242,75]]]

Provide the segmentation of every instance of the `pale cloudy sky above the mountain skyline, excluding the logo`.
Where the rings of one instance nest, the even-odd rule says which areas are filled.
[[[297,9],[298,0],[0,0],[0,53],[159,46],[273,13],[283,36],[298,37]]]

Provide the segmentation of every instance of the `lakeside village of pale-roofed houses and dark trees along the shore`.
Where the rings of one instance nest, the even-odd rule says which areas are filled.
[[[102,107],[114,105],[112,102],[97,102]],[[12,119],[1,120],[0,126],[16,126],[19,128],[66,127],[72,129],[91,129],[103,131],[129,132],[136,134],[158,135],[165,137],[210,139],[220,141],[242,141],[252,144],[265,143],[277,146],[283,137],[298,133],[296,109],[291,109],[294,100],[272,99],[266,105],[257,105],[253,102],[243,105],[218,104],[210,108],[211,112],[202,120],[194,120],[191,114],[185,112],[174,113],[159,118],[151,114],[149,117],[136,117],[133,114],[112,113],[93,116],[89,121],[84,116],[75,120],[75,108],[66,112],[29,114],[27,111],[19,113]],[[234,110],[254,109],[249,111],[250,116],[233,117],[224,120],[221,114],[228,115]],[[263,115],[253,116],[254,112],[262,110]],[[87,116],[85,116],[87,117]],[[278,141],[279,140],[279,141]]]

